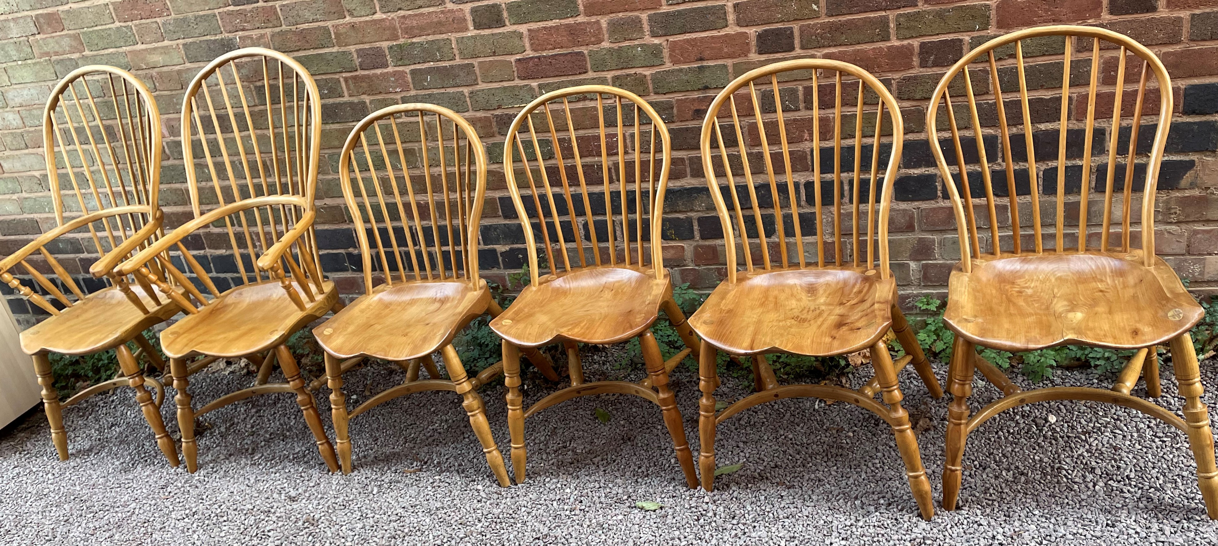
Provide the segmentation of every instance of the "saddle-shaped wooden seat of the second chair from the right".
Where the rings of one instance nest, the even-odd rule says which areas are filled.
[[[861,268],[739,278],[715,289],[689,317],[704,340],[732,355],[845,355],[875,345],[893,324],[895,280]]]

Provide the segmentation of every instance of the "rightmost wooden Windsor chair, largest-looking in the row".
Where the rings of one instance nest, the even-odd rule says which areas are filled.
[[[1061,55],[1039,66],[1026,66],[1023,43],[1046,37],[1062,40]],[[1000,63],[1000,54],[1011,49],[1013,58]],[[1086,52],[1090,58],[1072,61],[1075,54]],[[973,74],[965,71],[978,60],[982,62],[974,65]],[[1060,88],[1045,84],[1038,90],[1037,80],[1027,77],[1029,72],[1045,72],[1046,68],[1061,69]],[[966,94],[967,108],[960,108],[965,110],[960,115],[963,123],[956,119],[957,107],[949,93],[956,78],[962,79]],[[988,105],[977,98],[976,78],[989,84],[985,93],[991,99]],[[1151,80],[1157,85],[1149,88]],[[1086,82],[1086,91],[1072,95],[1072,87],[1083,82]],[[1132,84],[1136,85],[1136,91],[1127,89]],[[955,154],[955,173],[944,151],[939,146],[931,149],[944,180],[954,180],[946,188],[955,210],[962,256],[949,279],[944,313],[944,322],[956,334],[950,364],[952,401],[943,470],[944,508],[956,506],[965,440],[982,423],[1004,410],[1026,403],[1091,400],[1140,411],[1185,431],[1196,457],[1207,511],[1211,518],[1218,517],[1213,436],[1206,406],[1201,403],[1197,358],[1188,334],[1200,321],[1202,310],[1172,268],[1155,255],[1155,189],[1173,111],[1170,89],[1166,68],[1141,44],[1111,30],[1074,26],[1032,28],[995,38],[952,66],[935,88],[927,111],[927,127],[940,127],[937,123],[942,123],[942,116],[946,117],[951,144],[945,147]],[[1018,93],[1018,99],[1010,105],[1013,112],[1007,113],[1006,96],[1013,93]],[[1129,95],[1133,95],[1132,104]],[[1157,111],[1152,104],[1156,95]],[[1052,112],[1058,117],[1055,128],[1037,130],[1029,107],[1029,101],[1037,99],[1060,105],[1060,110]],[[996,110],[996,130],[994,123],[982,123],[979,105]],[[1123,124],[1123,112],[1130,107],[1132,123]],[[1096,127],[1096,117],[1105,113],[1111,116],[1111,126]],[[1157,116],[1153,140],[1142,138],[1150,133],[1142,127],[1144,113]],[[1018,134],[1021,129],[1022,135]],[[976,143],[972,146],[965,138],[970,132]],[[993,138],[1000,143],[1001,156],[991,161],[980,143],[995,133]],[[1105,144],[1107,154],[1102,155]],[[1121,157],[1123,151],[1125,155]],[[1056,162],[1049,168],[1038,166],[1037,157],[1047,154],[1054,154]],[[973,158],[972,168],[966,155]],[[1118,166],[1121,160],[1125,163]],[[1096,161],[1104,162],[1096,165]],[[1145,166],[1146,179],[1141,188],[1135,188],[1135,165],[1139,162]],[[991,165],[996,166],[994,173]],[[1005,186],[994,183],[994,177],[1004,176]],[[979,185],[974,184],[978,179]],[[1019,188],[1021,179],[1030,183]],[[1091,201],[1093,189],[1102,193],[1102,201]],[[1132,225],[1135,189],[1141,193],[1140,238],[1135,236]],[[984,195],[974,197],[973,191]],[[1027,197],[1021,199],[1023,195]],[[1044,202],[1043,195],[1047,197]],[[1000,197],[1005,197],[1009,218],[999,212],[1000,201],[1004,201]],[[1093,206],[1102,210],[1097,228],[1093,227],[1094,216],[1089,219]],[[1074,207],[1077,217],[1072,214]],[[1030,216],[1021,208],[1030,208]],[[1005,221],[1010,229],[1000,230]],[[1026,221],[1030,225],[1026,227]],[[978,233],[987,222],[988,233]],[[1049,229],[1052,235],[1046,233]],[[976,352],[977,346],[1033,351],[1071,344],[1136,352],[1112,390],[1047,388],[1028,391],[1011,384]],[[1180,394],[1186,400],[1184,419],[1129,395],[1142,372],[1150,396],[1161,395],[1156,347],[1164,344],[1170,346]],[[968,396],[978,369],[1006,396],[970,417]]]

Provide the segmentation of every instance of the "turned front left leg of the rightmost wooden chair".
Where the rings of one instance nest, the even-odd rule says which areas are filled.
[[[943,508],[948,511],[956,509],[956,500],[960,497],[965,440],[968,434],[968,396],[973,392],[974,347],[972,342],[957,335],[951,346],[951,362],[948,367],[951,405],[948,406],[946,461],[943,464]]]

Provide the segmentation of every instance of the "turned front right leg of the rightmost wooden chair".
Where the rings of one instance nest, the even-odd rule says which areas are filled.
[[[1206,501],[1209,519],[1218,519],[1218,469],[1214,468],[1214,436],[1209,431],[1209,411],[1201,403],[1203,389],[1192,336],[1172,339],[1172,369],[1184,396],[1184,420],[1189,423],[1189,445],[1197,461],[1197,485]]]

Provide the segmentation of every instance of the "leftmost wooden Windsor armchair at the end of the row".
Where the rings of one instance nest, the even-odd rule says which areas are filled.
[[[22,350],[34,356],[51,440],[60,459],[67,461],[62,408],[129,385],[157,445],[177,467],[178,452],[161,419],[164,390],[160,381],[144,375],[139,360],[144,357],[156,369],[164,369],[143,333],[179,308],[173,301],[158,299],[150,286],[130,286],[127,275],[113,272],[116,263],[162,234],[163,216],[157,202],[161,115],[156,101],[143,82],[122,68],[77,68],[60,80],[46,101],[43,150],[57,227],[0,261],[0,282],[51,314],[21,333]],[[61,185],[65,174],[71,190]],[[80,216],[67,219],[66,213]],[[83,232],[88,234],[80,236]],[[61,261],[55,254],[84,256]],[[76,279],[84,269],[104,280]],[[34,288],[13,273],[29,275]],[[130,341],[139,347],[135,352],[127,346]],[[48,352],[91,355],[108,350],[114,350],[121,374],[61,403]],[[155,401],[146,383],[156,389]]]

